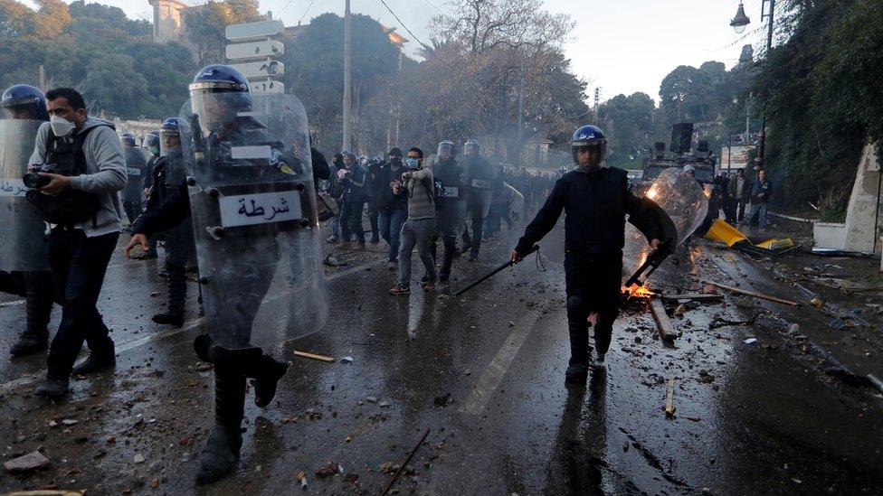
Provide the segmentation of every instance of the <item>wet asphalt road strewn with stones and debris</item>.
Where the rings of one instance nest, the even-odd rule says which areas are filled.
[[[478,264],[458,259],[451,287],[505,260],[516,236],[490,243]],[[658,340],[650,314],[634,305],[617,321],[606,372],[594,373],[586,388],[565,388],[562,239],[555,229],[542,243],[546,272],[529,258],[460,300],[422,292],[393,298],[383,255],[341,254],[349,265],[329,269],[326,329],[271,349],[293,365],[272,407],[254,407],[249,396],[242,462],[234,477],[209,488],[193,483],[212,426],[212,371],[191,347],[202,323],[195,298],[183,329],[149,321],[165,301],[157,262],[119,253],[111,261],[100,311],[118,365],[74,380],[66,401],[30,395],[44,355],[5,359],[24,305],[2,297],[2,457],[41,449],[52,464],[28,475],[0,473],[0,491],[295,493],[303,471],[309,492],[376,494],[429,429],[394,491],[883,492],[883,399],[821,373],[777,327],[784,310],[776,304],[741,309],[726,295],[722,304],[688,309],[673,318],[681,332],[674,344]],[[730,254],[695,245],[660,269],[653,286],[671,294],[698,290],[700,279],[764,277],[741,257],[730,262]],[[715,316],[745,320],[757,312],[763,316],[754,326],[708,329]],[[745,344],[748,337],[758,342]],[[295,350],[353,362],[301,359]],[[671,418],[663,411],[670,378]],[[319,478],[326,463],[342,473]]]

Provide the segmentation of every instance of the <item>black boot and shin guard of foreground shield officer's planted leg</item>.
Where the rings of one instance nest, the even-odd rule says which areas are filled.
[[[196,482],[208,484],[232,473],[242,448],[245,376],[239,370],[214,371],[214,430],[199,457]]]

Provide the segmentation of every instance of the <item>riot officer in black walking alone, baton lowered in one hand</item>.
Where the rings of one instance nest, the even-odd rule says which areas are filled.
[[[568,383],[584,383],[590,364],[588,318],[593,314],[595,365],[603,366],[610,348],[613,321],[619,314],[625,216],[650,240],[660,243],[661,223],[646,201],[628,190],[626,172],[603,167],[607,138],[596,126],[582,126],[570,143],[577,167],[555,182],[555,188],[524,236],[512,250],[520,261],[534,244],[565,218],[567,326],[570,332]]]

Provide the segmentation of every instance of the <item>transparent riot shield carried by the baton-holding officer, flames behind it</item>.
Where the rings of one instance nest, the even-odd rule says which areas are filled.
[[[650,205],[652,208],[663,211],[671,220],[670,224],[665,219],[662,222],[668,226],[663,230],[673,227],[675,231],[669,235],[674,238],[671,240],[671,251],[698,229],[708,211],[708,198],[699,183],[678,167],[663,170],[644,196],[653,202]],[[647,238],[631,224],[626,225],[622,252],[622,271],[626,275],[634,273],[650,255]]]

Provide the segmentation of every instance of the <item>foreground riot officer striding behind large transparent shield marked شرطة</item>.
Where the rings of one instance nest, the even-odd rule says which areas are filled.
[[[293,140],[268,141],[271,126],[290,117],[291,109],[267,106],[263,114],[258,112],[263,122],[253,117],[252,95],[241,72],[225,65],[207,66],[196,74],[189,91],[189,108],[185,106],[182,114],[190,127],[186,135],[182,132],[189,177],[178,182],[176,190],[169,192],[158,209],[143,216],[126,251],[128,254],[136,244],[146,248],[147,237],[190,221],[188,217],[192,216],[208,332],[197,337],[194,347],[201,360],[214,363],[214,429],[200,456],[196,475],[197,482],[208,483],[232,473],[239,460],[246,379],[252,379],[255,405],[267,407],[288,369],[287,362],[274,360],[252,345],[254,335],[263,332],[261,326],[268,324],[259,325],[255,319],[262,305],[272,300],[265,299],[272,283],[311,276],[305,272],[306,264],[287,274],[277,270],[285,263],[293,264],[292,259],[300,255],[297,249],[280,243],[290,239],[287,236],[292,232],[315,232],[308,229],[309,222],[300,228],[300,219],[297,224],[302,230],[265,222],[263,219],[275,217],[277,211],[265,215],[261,207],[258,213],[255,201],[243,203],[238,214],[235,210],[231,213],[251,223],[225,224],[221,201],[225,194],[241,194],[233,192],[234,189],[273,195],[292,182],[297,182],[299,191],[305,192],[300,198],[309,198],[313,181],[307,174],[309,163],[297,165],[284,145]],[[258,155],[243,156],[255,150]],[[299,167],[303,168],[301,173],[292,170]],[[268,188],[272,192],[266,193]],[[305,209],[309,205],[301,203],[300,207]],[[307,213],[304,212],[304,220]],[[315,212],[312,213],[312,221],[318,222]],[[219,217],[220,223],[215,223]],[[318,241],[315,246],[318,251]],[[300,300],[313,297],[311,292],[283,292],[276,299],[284,295]],[[274,317],[282,319],[285,315],[280,312]]]

